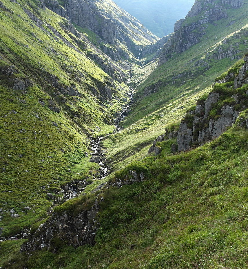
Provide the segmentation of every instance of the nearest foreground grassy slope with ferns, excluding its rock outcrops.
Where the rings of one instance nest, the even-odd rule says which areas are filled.
[[[147,180],[105,190],[95,246],[54,241],[56,254],[34,252],[28,268],[247,268],[247,142],[239,127],[177,155],[163,142],[160,156],[143,160]]]

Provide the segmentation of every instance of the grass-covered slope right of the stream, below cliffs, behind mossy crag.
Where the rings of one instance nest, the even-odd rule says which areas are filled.
[[[245,3],[240,9],[227,10],[228,18],[217,21],[216,26],[209,23],[198,44],[175,54],[162,66],[156,68],[155,60],[134,71],[131,82],[137,91],[136,103],[122,123],[125,129],[104,142],[111,149],[108,159],[114,161],[115,169],[133,158],[147,156],[150,144],[165,132],[165,127],[180,121],[187,108],[210,92],[215,77],[234,63],[231,58],[218,59],[221,49],[238,51],[234,59],[247,53],[247,9]],[[230,20],[235,23],[227,27]],[[158,91],[144,97],[145,88],[154,85],[158,85]]]

